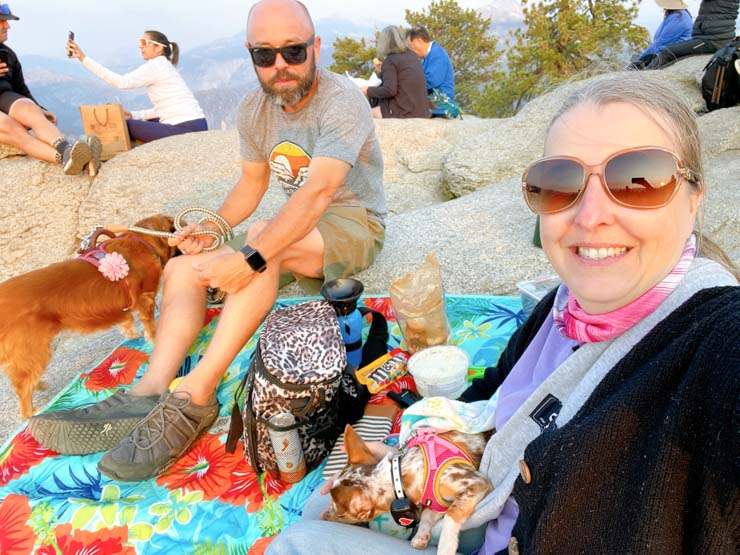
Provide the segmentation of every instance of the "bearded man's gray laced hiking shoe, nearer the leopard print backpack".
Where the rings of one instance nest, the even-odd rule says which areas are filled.
[[[184,455],[216,417],[215,395],[209,404],[201,406],[193,404],[189,393],[163,393],[149,415],[103,455],[98,470],[122,482],[157,476]]]

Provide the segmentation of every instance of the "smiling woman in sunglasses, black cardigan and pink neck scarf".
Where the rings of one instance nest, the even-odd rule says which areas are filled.
[[[699,231],[703,176],[694,114],[655,78],[593,81],[553,119],[522,187],[563,283],[461,397],[496,432],[459,551],[736,553],[740,287]],[[417,553],[307,520],[267,552],[349,538]]]

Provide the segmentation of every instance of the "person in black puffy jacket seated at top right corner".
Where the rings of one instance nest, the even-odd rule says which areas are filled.
[[[691,39],[663,48],[646,69],[658,69],[686,56],[714,54],[728,45],[735,38],[738,5],[740,0],[702,0]]]

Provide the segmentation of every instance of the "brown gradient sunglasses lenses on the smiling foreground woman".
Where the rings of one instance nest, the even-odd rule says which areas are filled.
[[[657,208],[676,190],[677,160],[658,149],[618,154],[606,163],[603,179],[618,203],[633,208]],[[550,214],[571,206],[585,186],[586,169],[570,159],[542,160],[524,176],[524,195],[532,211]]]

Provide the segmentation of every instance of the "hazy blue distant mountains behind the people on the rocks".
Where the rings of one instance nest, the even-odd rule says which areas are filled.
[[[492,32],[501,36],[521,25],[517,19],[516,0],[497,0],[481,13],[492,18]],[[519,12],[520,13],[520,12]],[[338,37],[373,37],[376,28],[344,19],[325,18],[316,21],[321,36],[319,66],[332,63],[333,42]],[[94,47],[82,45],[95,58]],[[79,106],[82,104],[121,103],[127,109],[151,106],[143,89],[120,90],[109,86],[87,71],[77,60],[44,56],[18,55],[26,81],[36,100],[57,115],[60,129],[68,135],[82,134]],[[116,58],[109,69],[126,73],[142,63],[135,51]],[[256,75],[244,45],[244,32],[227,36],[206,45],[184,51],[178,69],[195,93],[211,129],[233,129],[236,109],[244,93],[256,83]]]

